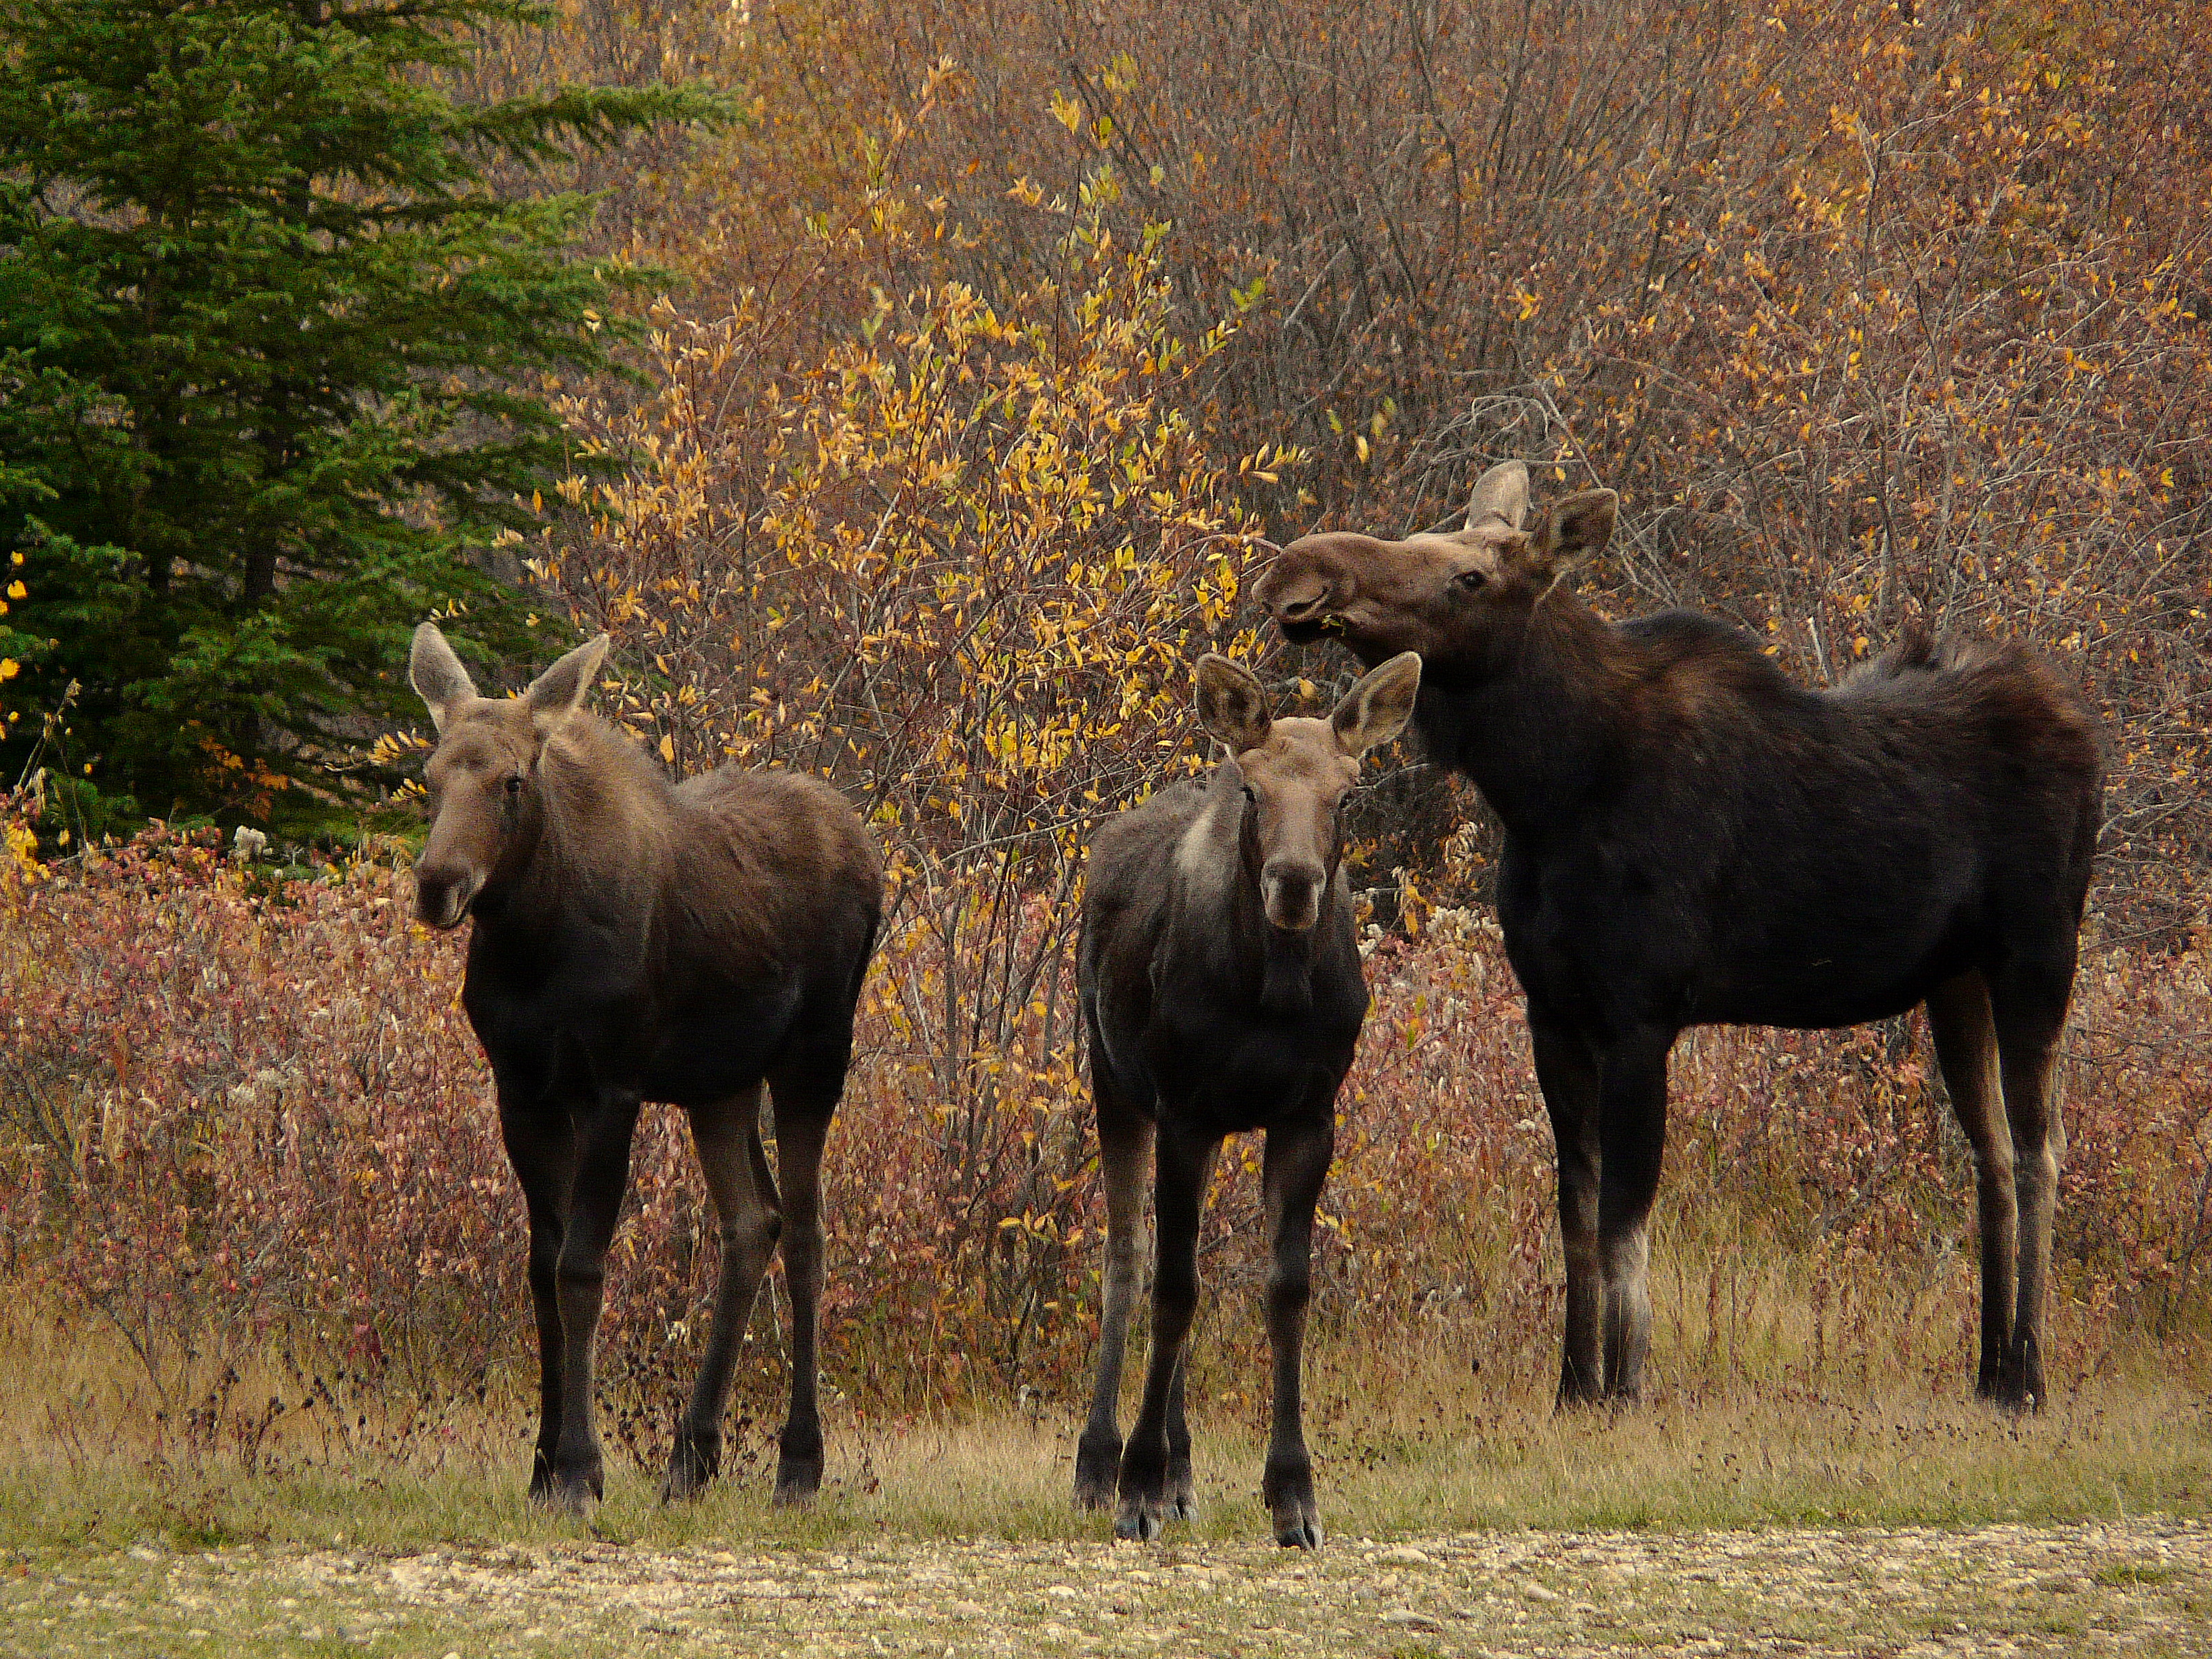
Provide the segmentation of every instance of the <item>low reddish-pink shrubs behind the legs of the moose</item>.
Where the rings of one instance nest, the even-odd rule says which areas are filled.
[[[1042,900],[1024,927],[1046,929]],[[894,931],[832,1139],[825,1365],[887,1409],[1073,1396],[1095,1332],[1102,1206],[1088,1102],[1055,1033],[998,1051],[995,1110],[945,1106],[927,1029],[945,942]],[[276,880],[210,836],[0,874],[0,1272],[113,1323],[170,1405],[283,1352],[392,1400],[500,1385],[529,1358],[522,1214],[458,1009],[462,947],[407,920],[387,863]],[[1055,969],[1055,971],[1064,971]],[[1486,920],[1383,938],[1345,1091],[1316,1318],[1367,1363],[1447,1340],[1548,1376],[1551,1130]],[[1033,1006],[1057,1006],[1064,987]],[[2062,1363],[2201,1334],[2212,1283],[2205,962],[2106,951],[2068,1046]],[[969,1062],[962,1062],[969,1064]],[[1964,1148],[1924,1026],[1692,1033],[1674,1062],[1663,1365],[1911,1365],[1960,1387],[1973,1270]],[[1208,1283],[1252,1336],[1256,1146],[1223,1159]],[[690,1376],[712,1232],[672,1113],[639,1135],[604,1376],[653,1455]],[[1790,1305],[1747,1267],[1794,1274]],[[1694,1303],[1705,1283],[1703,1310]],[[1765,1301],[1761,1301],[1765,1296]],[[1703,1316],[1703,1323],[1699,1318]],[[1809,1321],[1809,1329],[1805,1329]],[[1776,1332],[1787,1325],[1776,1347]],[[754,1398],[781,1343],[761,1340]],[[1703,1356],[1703,1358],[1701,1358]]]

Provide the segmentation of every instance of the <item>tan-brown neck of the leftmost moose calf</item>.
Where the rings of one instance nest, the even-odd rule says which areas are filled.
[[[650,905],[615,900],[666,878],[666,779],[624,734],[577,714],[546,739],[538,790],[538,836],[487,885],[473,907],[478,925],[535,949],[573,938],[580,920],[602,929],[608,918],[646,922]]]

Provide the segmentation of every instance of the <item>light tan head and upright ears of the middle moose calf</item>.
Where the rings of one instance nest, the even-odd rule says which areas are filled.
[[[1303,933],[1321,920],[1321,898],[1343,852],[1338,810],[1358,781],[1360,754],[1389,743],[1413,717],[1420,657],[1407,653],[1365,675],[1327,719],[1270,719],[1250,668],[1199,659],[1199,721],[1221,739],[1256,814],[1261,905],[1267,920]],[[1210,836],[1194,825],[1192,836]],[[1188,865],[1186,865],[1188,867]]]

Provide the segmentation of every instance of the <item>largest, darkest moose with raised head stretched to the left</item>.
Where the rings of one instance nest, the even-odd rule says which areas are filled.
[[[1559,1398],[1641,1385],[1677,1033],[1927,1002],[1978,1170],[1980,1391],[2039,1402],[2095,717],[2017,646],[1909,637],[1814,692],[1710,617],[1608,624],[1566,577],[1610,538],[1613,491],[1526,511],[1506,462],[1462,531],[1307,535],[1256,597],[1290,639],[1418,650],[1413,723],[1504,823],[1498,914],[1559,1155]]]

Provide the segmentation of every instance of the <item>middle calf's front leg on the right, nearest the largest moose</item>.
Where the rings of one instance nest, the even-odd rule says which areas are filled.
[[[1274,1422],[1267,1436],[1267,1467],[1261,1498],[1274,1515],[1274,1542],[1285,1548],[1321,1548],[1321,1509],[1314,1504],[1314,1460],[1305,1451],[1301,1411],[1301,1363],[1305,1356],[1305,1305],[1314,1276],[1314,1206],[1336,1155],[1336,1124],[1329,1106],[1321,1121],[1267,1130],[1263,1188],[1274,1261],[1267,1270],[1267,1347],[1274,1356]]]

